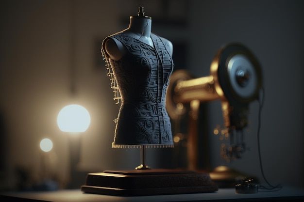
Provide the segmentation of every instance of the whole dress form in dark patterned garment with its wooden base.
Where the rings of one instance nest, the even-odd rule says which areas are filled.
[[[138,16],[130,17],[129,28],[106,37],[101,45],[114,100],[121,101],[112,147],[140,148],[141,165],[133,171],[89,173],[84,192],[143,196],[217,190],[208,174],[150,169],[145,163],[145,148],[173,147],[165,106],[173,47],[151,33],[151,24],[151,17],[144,16],[140,7]]]

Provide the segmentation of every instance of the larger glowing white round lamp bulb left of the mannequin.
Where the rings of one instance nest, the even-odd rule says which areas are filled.
[[[58,127],[63,132],[85,132],[90,123],[90,114],[81,105],[68,105],[60,110],[57,117]]]

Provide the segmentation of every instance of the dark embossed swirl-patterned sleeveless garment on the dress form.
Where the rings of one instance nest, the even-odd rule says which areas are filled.
[[[109,37],[117,39],[127,50],[118,61],[111,60],[104,51],[104,41]],[[155,34],[151,34],[154,47],[123,32],[109,37],[102,43],[102,52],[117,85],[114,89],[119,90],[116,93],[121,97],[112,147],[173,146],[166,110],[166,92],[173,71],[168,42]]]

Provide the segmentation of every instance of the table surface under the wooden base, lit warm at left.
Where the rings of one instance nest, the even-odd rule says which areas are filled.
[[[186,202],[186,201],[255,201],[286,199],[304,199],[304,189],[295,187],[283,187],[275,192],[258,192],[255,194],[236,194],[234,188],[219,189],[213,193],[199,194],[175,194],[159,196],[136,196],[136,197],[118,197],[98,194],[87,194],[79,189],[59,190],[50,192],[11,192],[4,193],[4,196],[13,196],[19,198],[41,200],[48,202]]]

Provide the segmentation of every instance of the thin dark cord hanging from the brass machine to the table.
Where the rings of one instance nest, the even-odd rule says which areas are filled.
[[[260,130],[261,130],[261,113],[262,113],[262,109],[263,109],[263,105],[264,105],[264,101],[265,101],[264,87],[262,87],[262,89],[261,89],[261,95],[262,95],[262,98],[260,96],[258,97],[259,111],[258,111],[258,125],[257,125],[257,148],[258,148],[258,155],[259,155],[261,173],[262,173],[264,181],[268,184],[269,187],[260,185],[260,186],[258,186],[258,188],[260,189],[259,190],[260,192],[279,191],[283,186],[281,186],[281,185],[276,185],[276,186],[271,185],[265,177],[264,170],[263,170],[263,165],[262,165],[261,148],[260,148]]]

